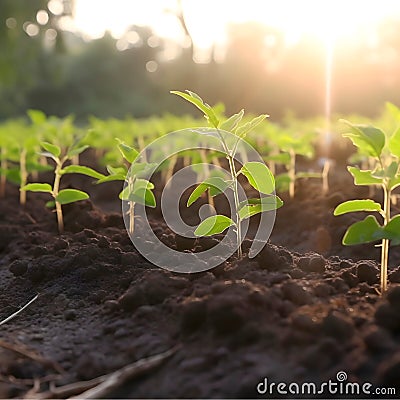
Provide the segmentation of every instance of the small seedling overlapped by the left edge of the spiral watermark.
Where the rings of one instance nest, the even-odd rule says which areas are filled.
[[[146,179],[140,178],[140,173],[145,172],[148,168],[152,167],[153,164],[146,162],[135,162],[134,165],[131,164],[136,160],[139,152],[133,147],[128,146],[126,143],[118,140],[118,150],[122,154],[125,162],[130,166],[130,171],[128,173],[128,167],[125,165],[112,167],[107,166],[107,171],[109,175],[103,176],[98,180],[97,183],[111,182],[111,181],[126,181],[126,187],[120,192],[119,198],[121,200],[127,201],[129,204],[128,215],[129,215],[129,234],[133,234],[135,230],[135,204],[143,204],[148,207],[156,206],[156,199],[152,190],[154,189],[154,184]]]

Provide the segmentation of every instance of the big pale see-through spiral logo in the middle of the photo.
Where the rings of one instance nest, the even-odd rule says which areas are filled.
[[[238,141],[238,137],[232,133],[225,131],[223,133],[228,149],[235,148],[235,161],[240,164],[248,161],[263,162],[260,154],[245,140],[239,139]],[[192,154],[195,155],[199,155],[201,152],[206,155],[212,152],[219,152],[220,159],[226,156],[226,152],[222,148],[220,141],[212,135],[211,128],[207,132],[199,129],[175,131],[160,137],[143,149],[139,157],[132,163],[127,179],[133,174],[132,171],[137,170],[137,163],[150,162],[150,168],[146,169],[143,175],[140,176],[143,179],[150,180],[152,175],[160,169],[160,166],[162,169],[171,159],[176,158],[179,153],[185,152],[187,154],[190,151],[194,152]],[[202,179],[207,178],[207,176],[204,176],[204,171],[210,173],[215,169],[219,170],[218,174],[223,179],[227,181],[231,179],[226,169],[221,168],[211,161],[203,161],[202,163],[198,163],[196,167],[196,171],[202,171]],[[199,174],[196,179],[193,165],[188,165],[179,169],[179,171],[171,176],[161,194],[160,206],[164,221],[174,233],[184,237],[195,238],[194,230],[196,227],[188,225],[182,219],[180,214],[180,199],[189,188],[189,190],[193,190],[199,181],[201,181]],[[228,201],[231,215],[234,215],[234,197],[231,192],[232,190],[228,189],[223,195]],[[240,184],[238,195],[240,201],[247,198]],[[201,220],[204,220],[213,215],[213,212],[215,213],[215,210],[212,207],[203,206],[200,208],[199,217]],[[224,238],[214,247],[197,253],[180,252],[168,247],[155,235],[150,226],[145,206],[140,204],[140,202],[135,203],[135,216],[140,221],[140,227],[135,229],[133,234],[129,232],[129,201],[122,201],[122,213],[128,234],[136,249],[154,265],[170,271],[193,273],[210,270],[227,260],[236,252],[238,247],[235,227],[231,226],[227,229]],[[267,242],[275,222],[275,214],[275,211],[260,214],[258,229],[249,250],[250,258],[255,257]],[[241,223],[242,241],[246,236],[248,227],[249,221],[247,219]]]

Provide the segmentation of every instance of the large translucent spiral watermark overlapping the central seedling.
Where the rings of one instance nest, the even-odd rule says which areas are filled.
[[[218,135],[223,138],[221,143],[216,132],[215,129],[211,128],[203,130],[185,129],[162,136],[150,143],[142,151],[141,155],[132,163],[128,172],[127,181],[129,182],[130,176],[136,173],[137,166],[143,162],[143,155],[150,154],[151,167],[147,168],[141,175],[142,179],[150,181],[152,175],[163,163],[168,162],[172,157],[176,157],[177,154],[184,151],[217,152],[227,159],[231,158],[229,160],[231,161],[230,163],[235,163],[241,168],[238,171],[229,171],[212,162],[198,164],[201,166],[201,170],[208,171],[209,176],[217,177],[217,179],[214,178],[216,182],[228,182],[226,185],[227,190],[222,190],[221,187],[218,187],[221,184],[213,183],[213,186],[210,185],[210,187],[220,189],[221,194],[227,200],[230,215],[232,216],[232,219],[220,216],[231,220],[232,223],[227,224],[226,229],[224,229],[224,237],[217,245],[201,252],[181,252],[164,244],[151,228],[144,205],[145,201],[135,204],[135,218],[140,218],[142,226],[139,234],[133,233],[130,229],[130,215],[132,215],[130,214],[130,201],[122,201],[125,226],[132,243],[148,261],[160,268],[179,273],[193,273],[216,267],[231,257],[238,249],[241,250],[241,243],[249,227],[248,218],[253,215],[252,212],[254,211],[268,212],[259,214],[258,228],[249,249],[249,257],[255,257],[270,237],[275,222],[276,208],[281,205],[281,202],[278,205],[280,199],[274,194],[274,186],[271,187],[271,193],[259,193],[259,199],[250,199],[251,201],[257,200],[259,202],[259,204],[252,204],[248,203],[249,199],[246,196],[245,189],[236,179],[240,172],[243,171],[243,166],[249,166],[248,169],[254,165],[265,166],[261,155],[245,140],[230,132],[218,131]],[[267,168],[265,167],[265,169]],[[249,174],[247,170],[242,173],[243,175]],[[233,179],[232,176],[235,182],[230,183]],[[207,178],[207,176],[202,176],[203,180],[207,180]],[[264,180],[267,180],[267,178],[268,176]],[[188,225],[182,218],[179,200],[185,191],[194,185],[199,185],[199,182],[193,180],[193,165],[188,165],[172,174],[161,193],[160,208],[165,223],[172,232],[187,238],[196,238],[196,227]],[[126,188],[127,183],[125,183],[124,190]],[[143,195],[145,195],[145,191]],[[246,206],[246,204],[248,205]],[[212,216],[213,212],[215,212],[215,209],[213,210],[212,207],[201,208],[199,212],[200,219],[204,221]],[[235,215],[238,217],[237,221],[234,221]],[[241,216],[243,218],[240,219]]]

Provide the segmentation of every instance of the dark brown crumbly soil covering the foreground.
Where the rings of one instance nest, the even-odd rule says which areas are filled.
[[[0,320],[39,298],[0,328],[0,397],[32,398],[50,383],[89,380],[175,346],[160,366],[105,397],[385,397],[374,394],[377,387],[395,387],[398,396],[399,251],[391,249],[390,290],[381,297],[379,248],[341,245],[360,216],[332,216],[341,201],[368,192],[353,186],[344,167],[331,176],[326,196],[313,180],[299,182],[295,199],[283,196],[271,239],[255,259],[233,257],[186,275],[137,253],[120,212],[109,212],[120,207],[118,186],[96,187],[93,203],[64,207],[62,235],[45,196],[29,194],[27,206],[16,207],[17,191],[8,187],[0,200]],[[151,218],[170,245],[202,246],[175,238],[157,213]],[[372,394],[256,389],[265,378],[336,382],[339,371],[347,381],[370,382]]]

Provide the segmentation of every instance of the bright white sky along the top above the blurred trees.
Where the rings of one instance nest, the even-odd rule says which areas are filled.
[[[89,38],[105,30],[120,38],[130,25],[149,25],[157,35],[179,42],[182,30],[167,12],[176,5],[177,0],[75,0],[74,25]],[[283,31],[288,42],[303,34],[333,41],[400,15],[400,0],[182,0],[182,7],[198,48],[223,44],[230,22],[263,22]]]

